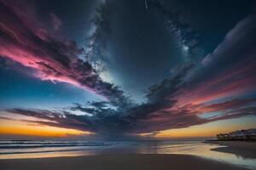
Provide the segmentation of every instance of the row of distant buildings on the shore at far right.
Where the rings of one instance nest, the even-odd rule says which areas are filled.
[[[231,133],[219,133],[218,140],[256,140],[256,129],[238,130]]]

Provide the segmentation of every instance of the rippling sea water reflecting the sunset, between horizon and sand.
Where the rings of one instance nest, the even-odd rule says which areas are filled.
[[[256,169],[256,159],[211,150],[217,147],[218,144],[198,141],[1,141],[0,159],[134,153],[183,154]]]

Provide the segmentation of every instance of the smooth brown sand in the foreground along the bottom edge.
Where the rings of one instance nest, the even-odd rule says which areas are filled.
[[[132,155],[102,155],[74,156],[33,159],[0,160],[3,170],[239,170],[224,162],[211,161],[199,156],[175,154],[132,154]]]

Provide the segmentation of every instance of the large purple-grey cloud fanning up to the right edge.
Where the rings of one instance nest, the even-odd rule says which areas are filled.
[[[255,23],[255,15],[241,20],[212,54],[202,60],[204,66],[193,73],[191,86],[180,96],[180,103],[202,103],[255,90]]]

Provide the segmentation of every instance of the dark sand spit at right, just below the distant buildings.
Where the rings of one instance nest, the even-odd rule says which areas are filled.
[[[228,147],[214,148],[214,151],[221,151],[235,154],[244,158],[256,159],[256,142],[244,141],[210,141],[207,143],[220,144]]]

